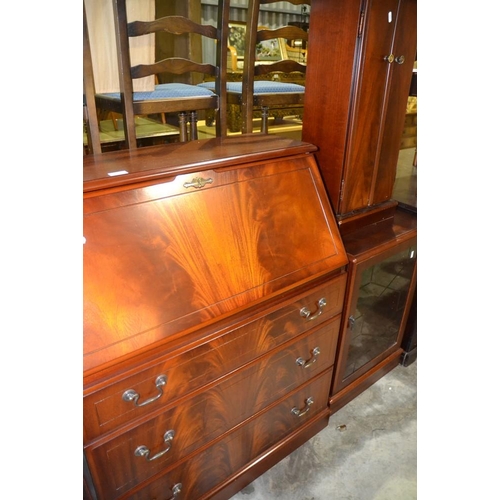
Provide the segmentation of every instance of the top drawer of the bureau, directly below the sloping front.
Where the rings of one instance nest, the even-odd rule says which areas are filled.
[[[85,442],[174,404],[180,397],[338,315],[345,284],[344,273],[290,299],[282,307],[240,323],[238,328],[226,329],[215,339],[160,357],[147,369],[98,390],[87,389],[83,402]],[[321,299],[325,305],[318,311]],[[304,308],[311,311],[309,317],[301,314]],[[321,314],[318,316],[317,312]],[[136,399],[127,395],[136,395]]]

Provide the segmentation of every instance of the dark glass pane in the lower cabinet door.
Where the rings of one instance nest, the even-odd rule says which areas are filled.
[[[396,342],[415,261],[410,247],[363,271],[344,378]]]

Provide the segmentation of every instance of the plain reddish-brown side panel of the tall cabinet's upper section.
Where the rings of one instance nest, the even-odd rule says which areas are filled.
[[[320,146],[316,158],[336,215],[362,3],[314,0],[309,18],[302,138]]]

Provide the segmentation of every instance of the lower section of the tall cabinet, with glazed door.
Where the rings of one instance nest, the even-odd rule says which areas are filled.
[[[343,236],[349,279],[330,401],[332,412],[396,367],[413,304],[417,272],[415,214]]]

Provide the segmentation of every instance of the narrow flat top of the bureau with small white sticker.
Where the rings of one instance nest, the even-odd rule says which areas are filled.
[[[83,159],[83,192],[316,150],[280,136],[249,134],[89,155]]]

